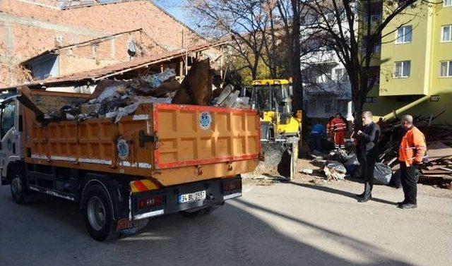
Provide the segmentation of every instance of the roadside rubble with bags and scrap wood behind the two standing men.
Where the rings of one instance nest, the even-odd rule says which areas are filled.
[[[452,126],[432,125],[432,119],[437,116],[415,117],[414,124],[425,135],[427,142],[428,162],[419,167],[420,182],[452,184]],[[400,120],[383,121],[381,128],[380,155],[374,169],[374,183],[399,188],[400,164],[398,162],[398,147],[405,131],[400,126]],[[347,175],[361,179],[361,167],[355,153],[345,150],[333,150],[328,155],[321,152],[311,154],[313,162],[323,164],[323,171],[328,180],[340,180]],[[347,175],[343,172],[342,167]],[[338,172],[337,169],[342,171]],[[310,169],[303,169],[308,173]]]

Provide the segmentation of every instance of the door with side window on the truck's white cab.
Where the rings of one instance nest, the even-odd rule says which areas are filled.
[[[18,134],[15,122],[17,120],[16,99],[0,104],[0,171],[2,184],[6,181],[6,169],[9,162],[19,159]]]

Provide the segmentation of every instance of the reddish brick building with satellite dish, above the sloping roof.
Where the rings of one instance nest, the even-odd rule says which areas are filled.
[[[0,87],[206,44],[152,1],[0,1]]]

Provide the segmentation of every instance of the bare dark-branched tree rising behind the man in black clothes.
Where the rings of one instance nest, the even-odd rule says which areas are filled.
[[[345,66],[350,78],[352,102],[356,115],[362,108],[368,92],[379,80],[375,53],[381,47],[382,38],[408,25],[416,16],[410,8],[425,4],[424,0],[309,0],[300,1],[305,11],[312,16],[311,29],[319,30],[323,43],[331,47]],[[384,30],[401,14],[398,26]],[[381,63],[381,62],[380,62]],[[355,128],[357,130],[358,128]]]

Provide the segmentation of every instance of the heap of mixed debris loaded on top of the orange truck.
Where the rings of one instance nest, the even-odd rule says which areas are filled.
[[[143,75],[131,80],[102,80],[97,83],[88,101],[68,104],[45,114],[46,121],[112,118],[117,123],[133,114],[139,104],[194,104],[232,108],[249,108],[246,97],[232,86],[212,90],[212,70],[208,59],[196,61],[182,83],[176,80],[174,69]]]

